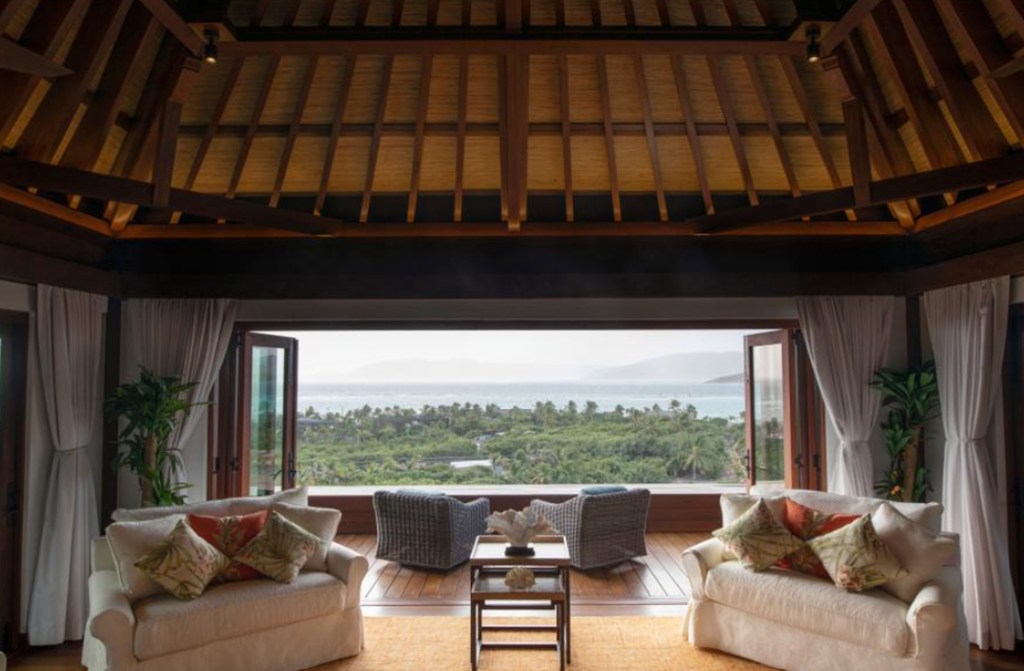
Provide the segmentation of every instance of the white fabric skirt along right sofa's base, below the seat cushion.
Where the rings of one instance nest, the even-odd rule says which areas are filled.
[[[924,660],[895,657],[710,600],[691,599],[683,623],[693,645],[787,671],[970,671],[967,647],[957,636],[949,636],[942,659]]]

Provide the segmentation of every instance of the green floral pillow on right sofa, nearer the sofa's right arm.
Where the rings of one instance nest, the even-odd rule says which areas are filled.
[[[807,545],[818,555],[837,587],[862,592],[906,575],[866,514],[830,534],[812,538]]]

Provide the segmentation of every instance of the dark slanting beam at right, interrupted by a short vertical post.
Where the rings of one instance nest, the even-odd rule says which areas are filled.
[[[872,181],[869,203],[881,205],[907,201],[1019,179],[1024,179],[1024,154]],[[853,187],[848,186],[758,207],[731,210],[710,217],[695,217],[690,222],[698,225],[703,233],[721,233],[797,217],[829,214],[852,208],[854,204]]]

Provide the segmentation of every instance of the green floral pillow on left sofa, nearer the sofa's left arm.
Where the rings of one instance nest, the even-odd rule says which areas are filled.
[[[182,601],[200,596],[230,559],[179,519],[174,530],[135,568]]]

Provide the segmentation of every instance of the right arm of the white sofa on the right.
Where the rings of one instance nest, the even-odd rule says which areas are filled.
[[[963,589],[959,570],[944,567],[921,588],[907,609],[906,623],[912,635],[908,654],[920,660],[934,661],[934,665],[926,665],[928,668],[939,668],[938,662],[948,659],[958,638],[966,641],[967,632],[957,631],[963,620]]]

